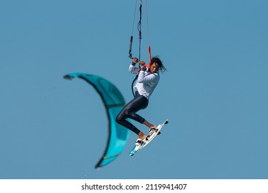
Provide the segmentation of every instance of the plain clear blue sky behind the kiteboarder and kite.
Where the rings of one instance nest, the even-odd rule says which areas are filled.
[[[0,179],[268,179],[265,0],[148,0],[152,55],[168,72],[140,114],[169,124],[133,157],[131,133],[94,169],[105,109],[92,86],[63,75],[97,74],[132,99],[135,2],[0,1]],[[138,12],[134,56],[137,22]],[[147,61],[145,1],[142,31]]]

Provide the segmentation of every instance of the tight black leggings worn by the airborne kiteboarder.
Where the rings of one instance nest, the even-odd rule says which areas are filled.
[[[132,132],[138,134],[140,130],[136,128],[132,123],[125,120],[127,118],[133,119],[134,121],[138,121],[139,123],[143,123],[145,119],[143,117],[136,114],[139,110],[147,108],[149,101],[145,96],[138,94],[135,92],[135,97],[125,105],[125,107],[119,112],[116,116],[116,122],[120,125],[123,125],[125,128],[132,130]]]

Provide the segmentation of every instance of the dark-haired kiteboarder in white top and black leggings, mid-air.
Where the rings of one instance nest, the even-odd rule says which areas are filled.
[[[140,71],[138,70],[139,68],[136,68],[136,63],[141,65]],[[154,92],[154,89],[160,79],[160,75],[158,73],[159,70],[162,72],[166,71],[165,66],[158,57],[153,57],[149,66],[146,66],[144,61],[138,62],[136,57],[133,58],[133,61],[130,64],[129,72],[132,74],[138,74],[136,84],[134,85],[134,99],[127,103],[121,112],[119,112],[116,116],[116,122],[138,135],[136,145],[142,145],[156,130],[156,125],[148,122],[142,116],[136,114],[136,112],[147,108],[150,96]],[[141,132],[141,130],[127,121],[127,118],[147,125],[150,129],[149,135],[147,136],[145,133]]]

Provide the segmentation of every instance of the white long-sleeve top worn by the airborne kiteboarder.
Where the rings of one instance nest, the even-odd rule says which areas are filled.
[[[134,85],[134,90],[138,91],[139,94],[149,99],[160,79],[158,72],[151,73],[147,68],[145,71],[141,70],[138,73],[138,68],[132,65],[132,63],[130,64],[130,68],[128,71],[131,74],[138,74],[138,79],[136,81],[136,84]]]

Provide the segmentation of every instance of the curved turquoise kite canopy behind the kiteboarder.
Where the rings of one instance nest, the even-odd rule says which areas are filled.
[[[108,118],[108,139],[105,152],[95,168],[103,167],[121,154],[127,143],[130,131],[116,123],[117,114],[125,105],[125,99],[114,84],[106,79],[92,74],[72,73],[64,76],[65,79],[80,78],[90,83],[100,94]]]

